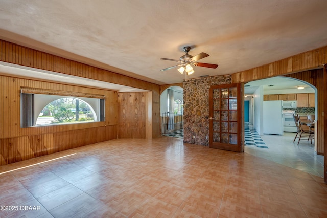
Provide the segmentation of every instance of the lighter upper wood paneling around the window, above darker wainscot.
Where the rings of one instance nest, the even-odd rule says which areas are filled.
[[[114,91],[98,90],[91,88],[82,88],[73,85],[64,85],[50,82],[40,82],[28,79],[14,78],[8,76],[0,76],[1,81],[1,93],[0,93],[0,107],[1,116],[0,120],[0,138],[13,138],[26,135],[37,135],[41,133],[49,133],[49,131],[60,131],[81,128],[79,125],[57,125],[48,127],[37,128],[20,128],[20,87],[32,87],[40,89],[51,89],[68,92],[84,92],[90,94],[100,94],[107,97],[106,99],[106,116],[108,119],[106,123],[95,122],[85,124],[85,128],[96,127],[99,125],[116,125],[117,116],[114,114],[117,112],[116,101],[117,96]],[[113,117],[110,116],[113,114]]]

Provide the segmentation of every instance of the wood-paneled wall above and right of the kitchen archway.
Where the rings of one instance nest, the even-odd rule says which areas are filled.
[[[249,82],[258,79],[265,79],[274,76],[290,76],[303,81],[307,81],[317,88],[318,104],[318,127],[317,132],[317,154],[324,154],[323,135],[327,134],[324,129],[323,120],[323,99],[326,95],[323,92],[323,74],[320,70],[323,64],[327,63],[327,46],[303,52],[289,58],[278,60],[264,66],[252,68],[250,70],[234,73],[231,75],[232,82]],[[314,70],[317,69],[318,70]]]

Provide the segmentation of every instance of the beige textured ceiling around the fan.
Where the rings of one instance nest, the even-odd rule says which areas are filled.
[[[189,52],[210,56],[188,78],[251,69],[327,45],[325,0],[0,0],[0,38],[154,82]]]

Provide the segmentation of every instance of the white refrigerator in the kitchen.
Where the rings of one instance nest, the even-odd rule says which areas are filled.
[[[264,101],[264,134],[283,135],[283,101]]]

